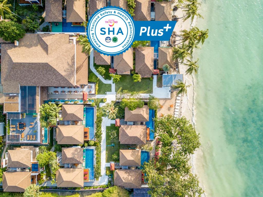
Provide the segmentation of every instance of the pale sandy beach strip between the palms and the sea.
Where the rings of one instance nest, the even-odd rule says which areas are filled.
[[[176,16],[183,16],[183,9],[178,8],[178,10],[175,12]],[[180,31],[186,29],[189,30],[190,27],[193,27],[196,25],[196,19],[194,19],[193,23],[190,23],[190,20],[186,20],[183,22],[182,19],[179,19],[179,21],[176,23],[174,31],[179,34]],[[193,124],[193,127],[195,127],[195,74],[191,75],[186,75],[185,71],[187,70],[187,67],[183,64],[179,64],[179,70],[180,74],[183,74],[184,76],[184,81],[186,82],[186,85],[191,84],[191,86],[187,89],[187,95],[184,95],[182,98],[182,103],[181,103],[181,110],[179,113],[179,117],[185,116],[186,119],[190,121],[191,124]],[[191,170],[193,174],[196,174],[199,179],[199,185],[202,187],[202,189],[205,191],[205,187],[203,185],[203,181],[201,181],[201,178],[198,174],[198,165],[197,165],[197,160],[201,158],[203,152],[201,150],[201,147],[193,154],[190,156],[190,165],[191,165]],[[200,170],[200,169],[199,169]],[[205,197],[206,194],[204,193],[202,197]]]

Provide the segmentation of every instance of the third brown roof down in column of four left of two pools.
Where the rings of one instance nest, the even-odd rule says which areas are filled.
[[[62,163],[82,164],[83,148],[62,148]]]

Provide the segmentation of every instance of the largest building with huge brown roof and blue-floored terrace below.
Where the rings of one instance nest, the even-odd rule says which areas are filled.
[[[69,34],[25,34],[17,45],[1,44],[3,111],[10,120],[7,142],[47,143],[39,106],[48,99],[48,87],[87,86],[88,67],[83,65],[88,56]]]

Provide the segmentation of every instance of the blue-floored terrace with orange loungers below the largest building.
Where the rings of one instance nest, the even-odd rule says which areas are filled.
[[[39,143],[39,127],[36,117],[26,116],[22,119],[11,119],[7,142]]]

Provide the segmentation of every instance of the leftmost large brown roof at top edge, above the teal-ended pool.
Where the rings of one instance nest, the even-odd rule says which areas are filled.
[[[46,0],[45,12],[46,22],[62,22],[62,0]]]

